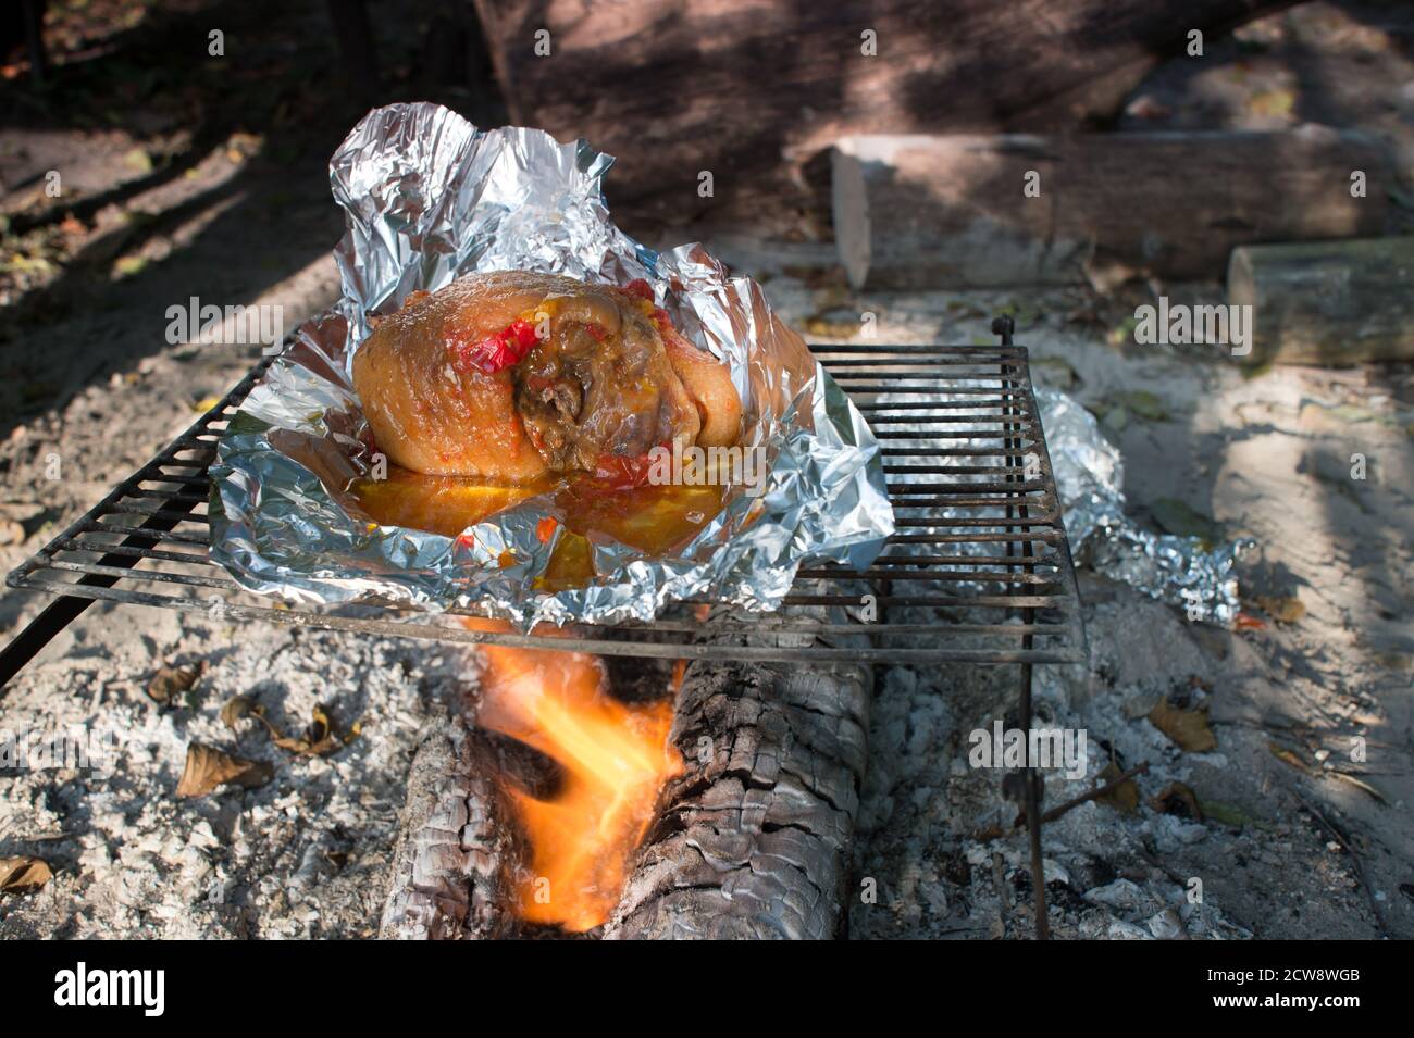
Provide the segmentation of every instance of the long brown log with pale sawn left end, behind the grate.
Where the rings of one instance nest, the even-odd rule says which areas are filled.
[[[1234,246],[1383,233],[1391,185],[1383,145],[1316,126],[855,137],[833,154],[840,260],[870,288],[1216,280]]]

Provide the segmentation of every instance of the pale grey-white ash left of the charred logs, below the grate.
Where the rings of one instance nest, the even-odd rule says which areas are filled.
[[[139,681],[98,696],[55,681],[51,664],[4,705],[4,724],[34,717],[109,726],[122,743],[112,774],[18,771],[4,782],[6,853],[38,853],[55,877],[11,898],[6,936],[368,936],[403,785],[433,699],[472,679],[467,655],[423,643],[315,630],[215,628],[195,621],[170,662],[204,658],[195,709],[165,709]],[[156,669],[161,658],[148,662]],[[328,757],[294,756],[255,719],[228,729],[221,708],[255,699],[287,734],[324,706],[338,732],[361,733]],[[177,799],[187,747],[204,743],[276,765],[270,784]],[[37,839],[42,836],[44,839]]]

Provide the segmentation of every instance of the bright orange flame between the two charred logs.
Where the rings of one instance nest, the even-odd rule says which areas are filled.
[[[465,624],[508,630],[498,620],[468,617]],[[481,651],[477,723],[534,747],[564,770],[553,801],[509,789],[530,843],[520,918],[575,933],[598,926],[618,904],[659,789],[683,770],[667,741],[673,706],[612,699],[602,662],[584,652],[506,645]]]

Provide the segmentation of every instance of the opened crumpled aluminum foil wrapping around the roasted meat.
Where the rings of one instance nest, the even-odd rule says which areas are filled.
[[[772,610],[806,559],[872,562],[894,515],[868,425],[759,285],[699,244],[658,254],[614,226],[601,191],[612,161],[542,130],[482,131],[427,103],[376,109],[352,130],[329,164],[348,223],[335,251],[342,298],[298,329],[211,467],[211,555],[242,586],[310,604],[475,609],[529,628],[648,621],[697,596]],[[354,352],[370,318],[413,290],[496,270],[646,278],[674,325],[730,366],[744,446],[769,459],[765,493],[734,489],[669,556],[595,535],[597,576],[554,593],[536,583],[564,528],[542,542],[542,499],[461,538],[372,521],[348,493],[372,463]]]

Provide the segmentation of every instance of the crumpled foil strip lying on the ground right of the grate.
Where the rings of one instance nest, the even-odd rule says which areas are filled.
[[[1076,561],[1144,593],[1182,606],[1189,620],[1232,626],[1233,565],[1251,541],[1205,548],[1192,537],[1140,530],[1124,514],[1124,462],[1094,415],[1056,390],[1036,390],[1051,467]]]

